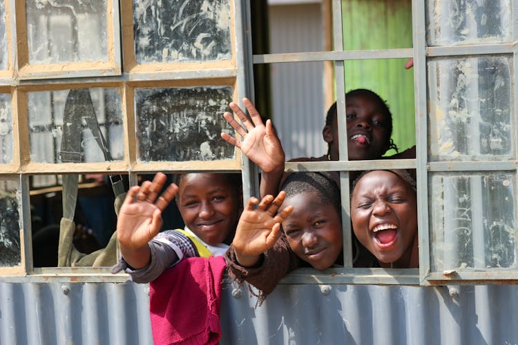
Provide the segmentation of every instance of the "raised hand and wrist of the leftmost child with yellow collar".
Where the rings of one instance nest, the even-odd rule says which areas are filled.
[[[164,186],[166,175],[158,172],[153,182],[144,181],[142,186],[128,190],[117,218],[117,239],[124,260],[135,269],[144,268],[151,260],[148,242],[157,235],[162,226],[162,210],[173,200],[178,186]]]

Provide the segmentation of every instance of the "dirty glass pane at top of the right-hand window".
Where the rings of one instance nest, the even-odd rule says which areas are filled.
[[[512,41],[511,0],[428,0],[428,46]]]

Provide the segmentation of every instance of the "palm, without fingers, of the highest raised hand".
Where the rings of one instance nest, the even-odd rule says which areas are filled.
[[[271,172],[284,163],[284,150],[277,137],[269,135],[265,125],[251,129],[243,138],[241,150],[262,171]]]

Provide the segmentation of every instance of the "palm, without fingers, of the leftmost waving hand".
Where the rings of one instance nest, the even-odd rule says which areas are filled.
[[[160,229],[160,224],[153,223],[153,213],[156,210],[160,209],[148,201],[124,204],[117,221],[119,242],[133,248],[141,248],[151,241]]]

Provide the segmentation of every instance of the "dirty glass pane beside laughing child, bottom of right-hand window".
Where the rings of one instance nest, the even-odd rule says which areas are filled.
[[[515,172],[435,173],[432,270],[516,268]]]

